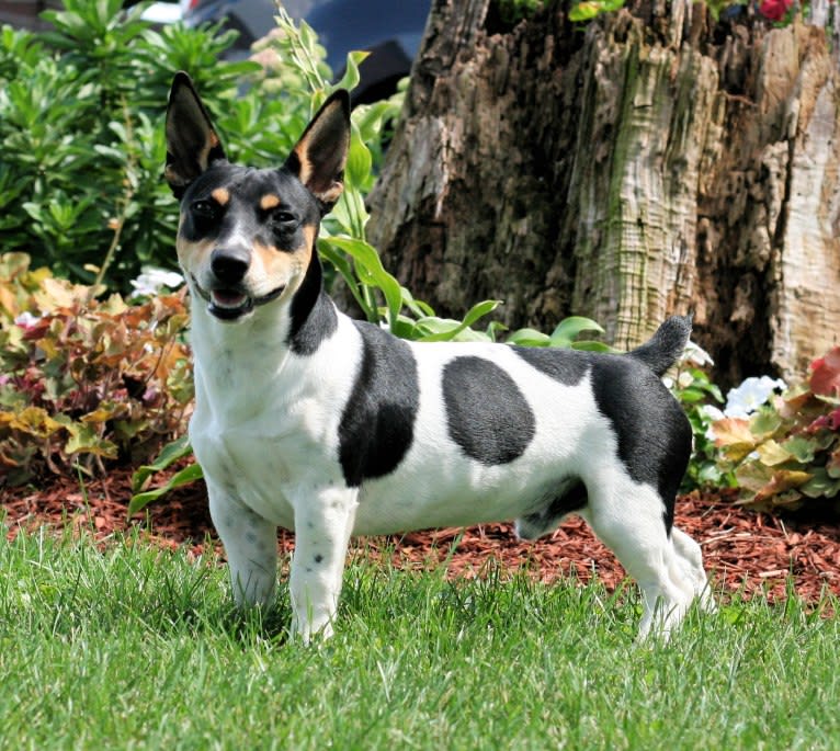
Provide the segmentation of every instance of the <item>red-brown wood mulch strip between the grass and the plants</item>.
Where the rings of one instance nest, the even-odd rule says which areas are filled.
[[[57,478],[44,490],[0,489],[0,504],[9,539],[21,528],[44,524],[71,525],[101,541],[139,526],[164,547],[185,545],[198,555],[209,545],[222,553],[204,493],[202,483],[182,488],[127,520],[130,476],[114,471],[102,480],[87,481],[83,489],[70,477]],[[716,591],[767,594],[771,601],[784,599],[791,588],[806,602],[818,601],[824,591],[840,595],[840,523],[836,520],[757,513],[737,505],[735,497],[724,491],[679,499],[677,524],[702,546]],[[293,535],[281,531],[280,545],[291,550]],[[518,541],[508,524],[485,524],[463,533],[442,530],[367,538],[356,548],[364,555],[391,555],[407,567],[446,561],[452,576],[479,576],[491,560],[502,570],[524,568],[547,581],[559,574],[581,581],[597,576],[610,590],[625,576],[614,556],[576,517],[537,543]]]

